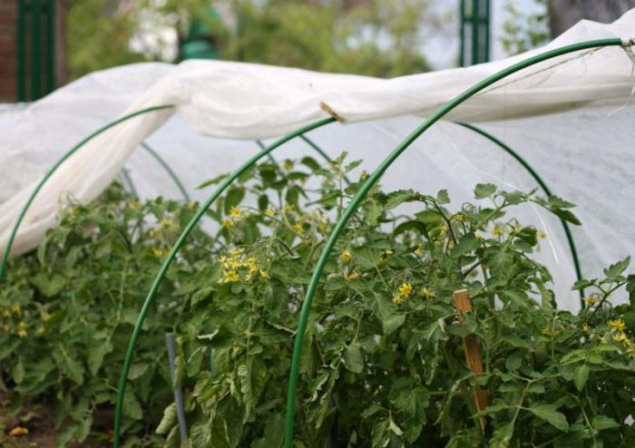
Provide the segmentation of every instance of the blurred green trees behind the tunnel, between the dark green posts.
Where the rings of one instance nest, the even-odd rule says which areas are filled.
[[[132,37],[172,27],[182,39],[192,17],[203,18],[214,30],[224,60],[386,77],[425,72],[429,66],[420,52],[419,28],[428,3],[137,0],[130,7],[119,0],[70,0],[71,78],[113,65],[161,59],[157,48],[134,53]],[[210,5],[220,6],[234,23],[209,15]]]

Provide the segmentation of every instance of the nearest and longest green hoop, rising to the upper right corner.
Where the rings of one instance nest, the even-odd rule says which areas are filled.
[[[308,324],[308,315],[310,313],[311,302],[313,301],[313,297],[315,296],[316,290],[318,288],[319,280],[322,276],[322,271],[324,270],[325,265],[327,264],[327,259],[335,247],[337,239],[341,235],[342,231],[346,228],[347,222],[355,211],[359,204],[366,198],[368,192],[373,188],[376,182],[382,177],[382,175],[386,172],[386,170],[390,167],[390,165],[396,161],[396,159],[415,141],[422,133],[424,133],[427,129],[429,129],[435,122],[438,122],[441,118],[445,116],[448,112],[452,111],[456,106],[466,101],[467,99],[474,96],[475,93],[481,92],[486,87],[496,83],[497,81],[502,80],[506,76],[509,76],[512,73],[516,73],[518,71],[523,70],[529,66],[532,66],[536,63],[541,63],[542,61],[546,61],[548,59],[552,59],[553,57],[560,56],[562,54],[570,54],[573,52],[577,52],[580,50],[586,50],[589,48],[596,48],[602,46],[609,45],[621,45],[621,39],[612,38],[612,39],[599,39],[587,42],[581,42],[579,44],[566,45],[561,48],[555,48],[548,52],[537,54],[530,58],[521,61],[520,63],[514,63],[513,65],[504,68],[498,73],[494,73],[491,76],[488,76],[483,81],[474,84],[469,89],[465,90],[463,93],[455,96],[450,102],[447,102],[443,107],[441,107],[435,114],[433,114],[429,119],[423,122],[420,126],[418,126],[415,131],[413,131],[410,135],[408,135],[404,141],[399,143],[395,150],[393,150],[384,161],[382,161],[370,174],[359,190],[357,190],[356,195],[350,201],[350,204],[347,206],[347,209],[344,210],[340,219],[337,221],[331,235],[329,236],[327,243],[322,249],[322,253],[320,258],[318,259],[318,264],[313,271],[313,275],[311,277],[311,281],[308,285],[307,294],[305,296],[304,302],[302,303],[302,308],[300,310],[300,317],[298,320],[298,330],[296,331],[295,341],[293,346],[293,356],[291,358],[291,369],[289,372],[288,379],[288,394],[287,394],[287,414],[285,417],[285,448],[291,448],[293,444],[293,436],[294,436],[294,421],[296,414],[296,396],[298,394],[298,372],[299,372],[299,363],[300,357],[302,354],[302,346],[304,343],[304,336],[307,331]]]

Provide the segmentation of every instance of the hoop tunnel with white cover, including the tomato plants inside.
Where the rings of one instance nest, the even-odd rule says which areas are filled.
[[[635,10],[471,67],[133,63],[7,106],[0,391],[62,446],[635,446],[634,122]]]

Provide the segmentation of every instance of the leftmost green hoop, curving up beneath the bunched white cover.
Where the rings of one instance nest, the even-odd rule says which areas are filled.
[[[22,221],[24,219],[24,215],[26,215],[26,212],[28,211],[29,207],[31,207],[31,204],[35,200],[35,197],[37,196],[37,193],[39,193],[40,190],[42,190],[42,187],[44,187],[44,184],[46,183],[46,181],[49,180],[51,178],[51,176],[53,176],[54,172],[64,163],[64,161],[66,161],[69,157],[71,157],[75,152],[79,151],[83,147],[83,145],[86,144],[88,141],[93,140],[95,137],[97,137],[98,135],[102,134],[104,131],[107,131],[107,130],[111,129],[112,127],[116,126],[117,124],[120,124],[122,122],[127,122],[128,120],[131,120],[132,118],[137,117],[139,115],[142,115],[144,113],[156,112],[156,111],[161,111],[161,110],[164,110],[164,109],[171,109],[173,107],[174,106],[172,104],[163,104],[161,106],[147,107],[145,109],[141,109],[139,111],[132,112],[132,113],[129,113],[127,115],[124,115],[121,118],[118,118],[117,120],[115,120],[113,122],[109,122],[108,124],[106,124],[103,127],[99,128],[97,131],[94,131],[93,133],[91,133],[87,137],[83,138],[82,141],[79,141],[75,146],[73,146],[73,148],[71,148],[70,150],[64,152],[64,155],[58,161],[56,161],[54,163],[54,165],[49,170],[47,170],[44,173],[44,177],[37,183],[37,185],[35,186],[33,192],[29,196],[28,200],[26,200],[26,202],[24,203],[23,208],[20,210],[20,214],[18,215],[17,219],[15,220],[14,228],[11,230],[11,234],[9,236],[9,239],[6,242],[5,252],[3,253],[2,260],[0,260],[0,281],[2,281],[2,279],[3,279],[4,275],[5,275],[6,263],[7,263],[7,260],[9,258],[9,253],[11,252],[11,247],[14,244],[15,235],[17,234],[17,229],[20,227],[20,224],[22,224]]]

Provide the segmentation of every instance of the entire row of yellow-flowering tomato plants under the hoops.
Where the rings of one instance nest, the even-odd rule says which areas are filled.
[[[219,230],[190,236],[143,326],[124,406],[128,446],[178,446],[167,331],[179,335],[176,383],[192,446],[281,445],[298,310],[359,187],[347,182],[357,166],[343,157],[324,168],[310,158],[262,163],[210,210]],[[312,306],[295,446],[635,442],[629,259],[574,286],[589,292],[578,315],[559,310],[549,272],[532,259],[542,233],[508,213],[531,202],[577,223],[572,204],[491,184],[474,196],[477,205],[452,209],[445,190],[376,188],[350,220]],[[107,429],[93,422],[112,416],[142,300],[193,212],[114,186],[64,208],[37,252],[12,262],[0,290],[0,375],[15,407],[55,405],[60,444]],[[630,305],[612,307],[624,287]],[[462,288],[474,312],[460,319],[452,294]],[[464,363],[462,338],[472,334],[483,375]],[[482,412],[477,386],[488,394]]]

